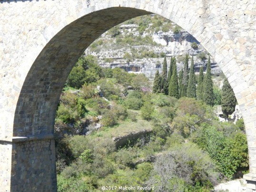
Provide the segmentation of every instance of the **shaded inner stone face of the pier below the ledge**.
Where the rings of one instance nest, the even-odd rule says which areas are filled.
[[[54,139],[12,144],[11,192],[57,192]]]

